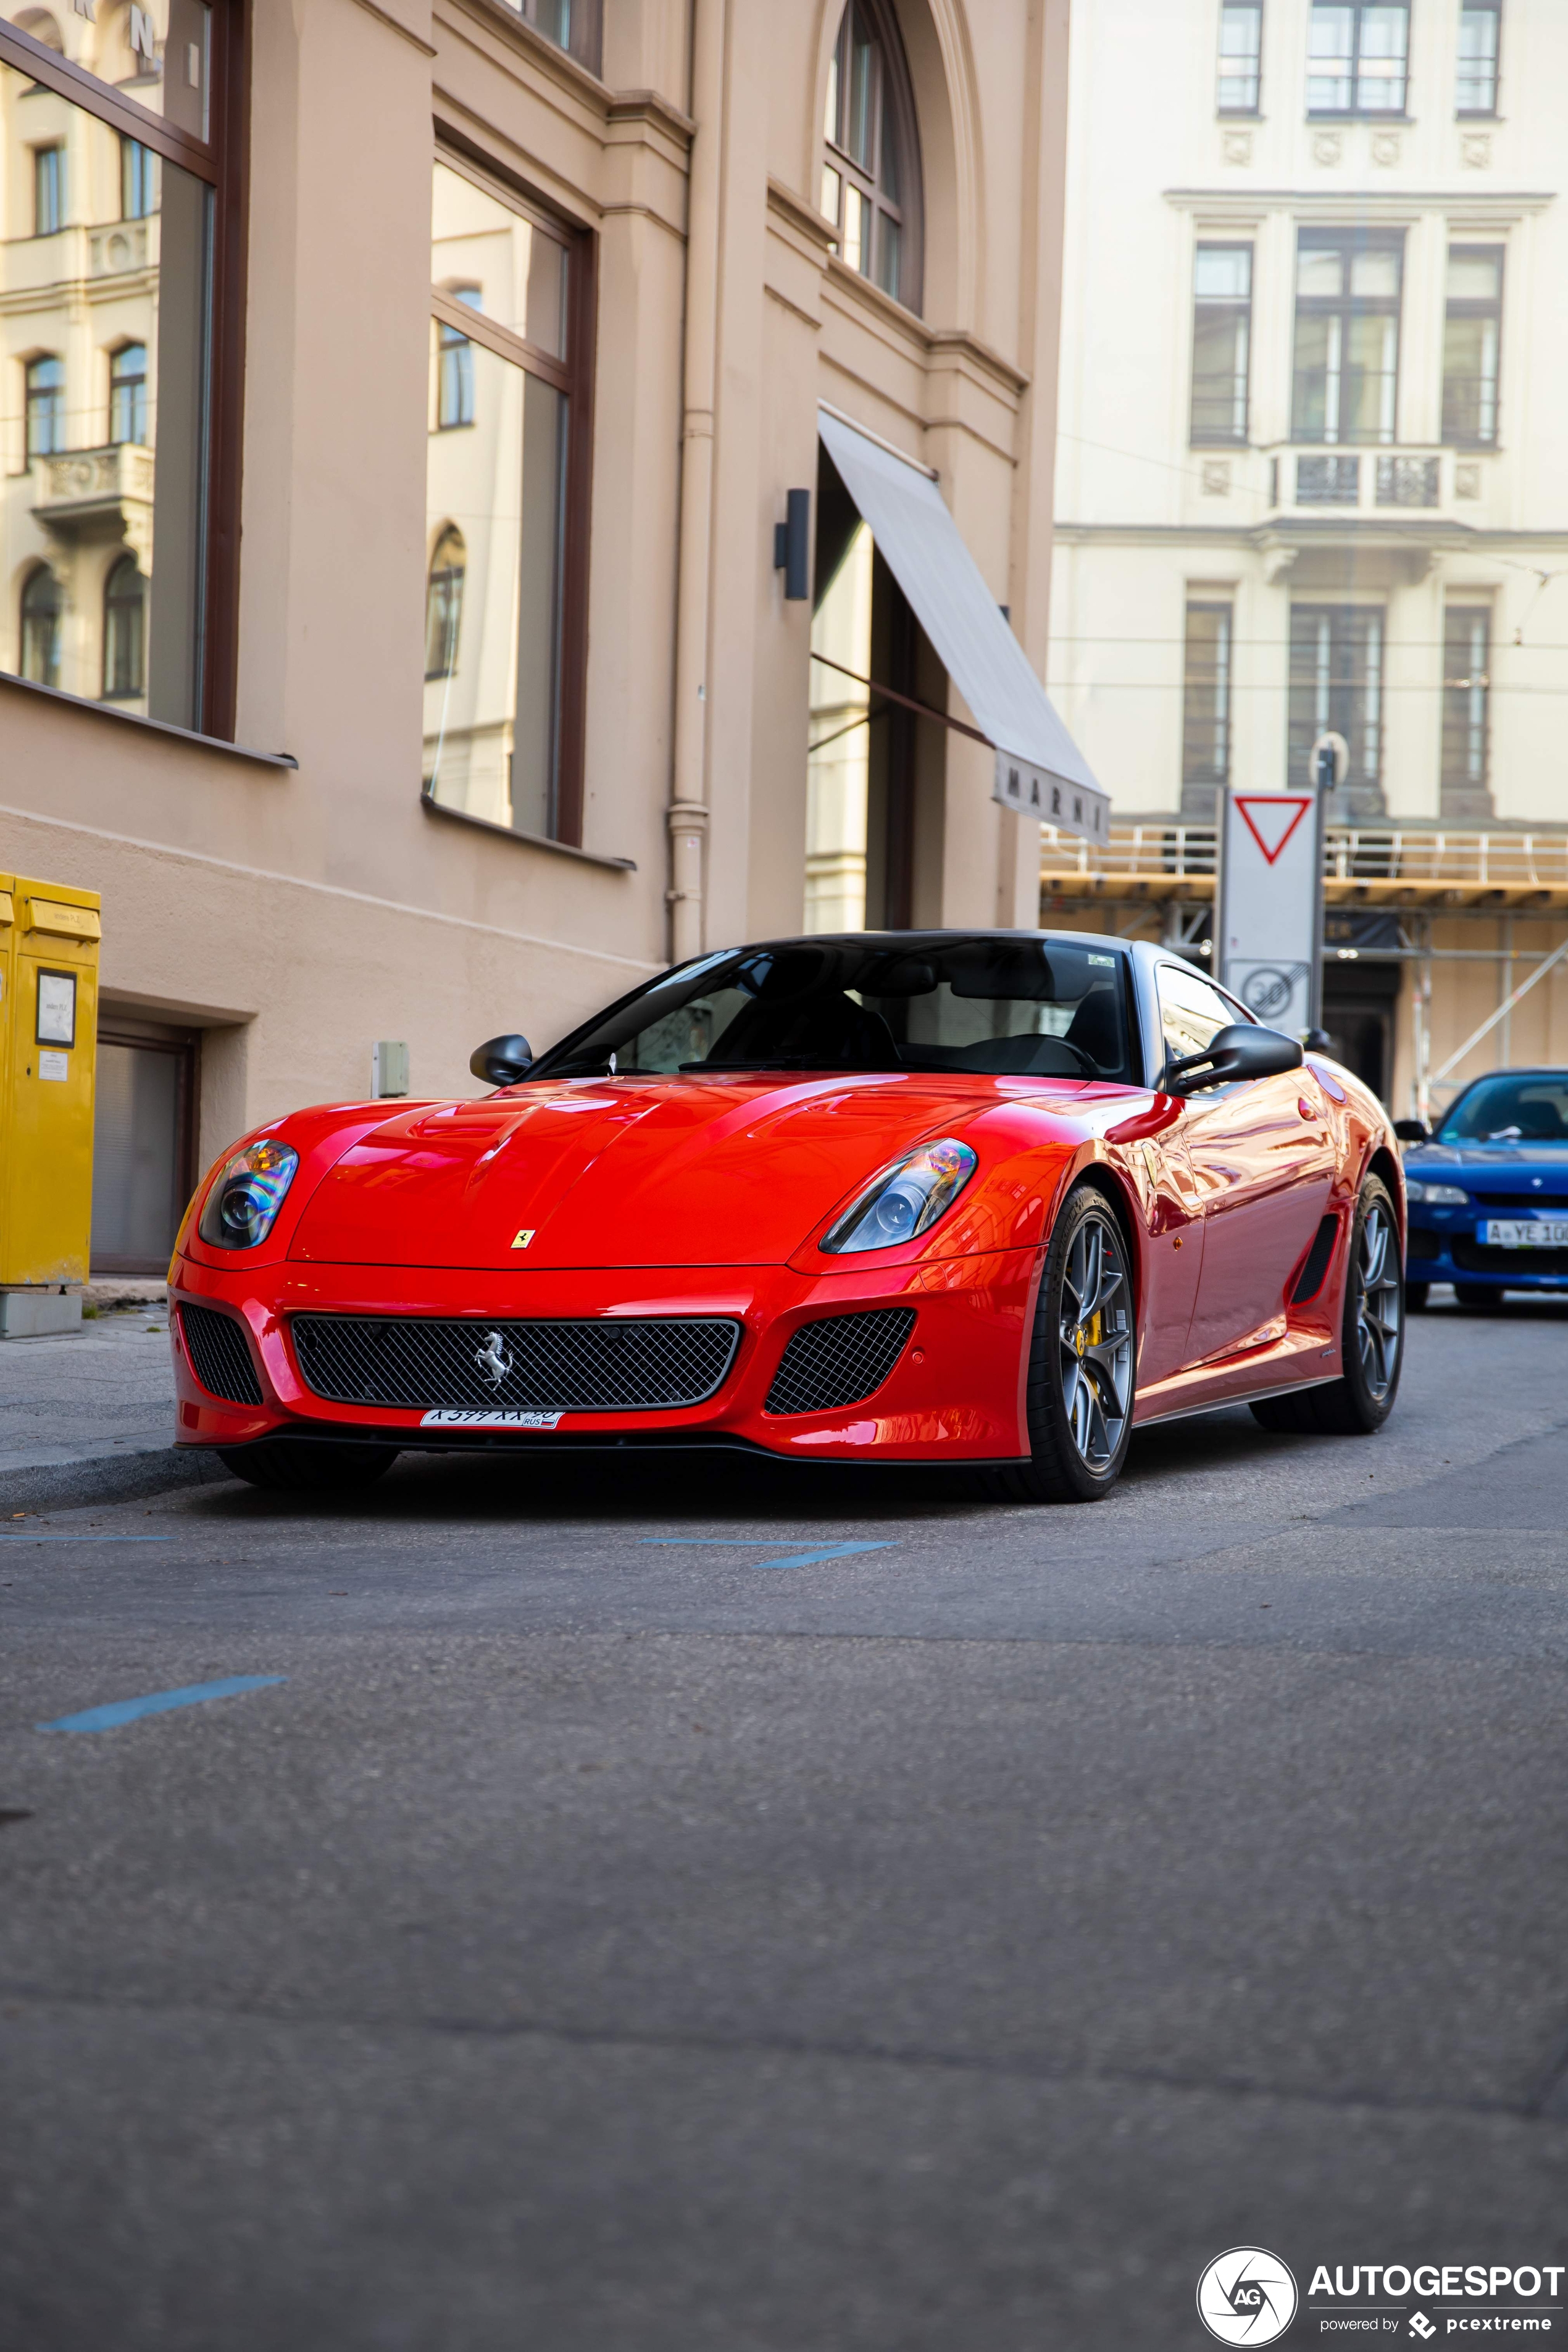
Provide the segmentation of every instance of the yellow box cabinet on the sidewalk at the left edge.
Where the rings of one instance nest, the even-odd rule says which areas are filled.
[[[96,891],[0,875],[0,1338],[82,1322],[99,931]]]

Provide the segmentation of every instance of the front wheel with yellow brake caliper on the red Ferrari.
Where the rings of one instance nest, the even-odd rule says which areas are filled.
[[[1098,1503],[1133,1435],[1138,1327],[1126,1225],[1093,1183],[1067,1195],[1030,1338],[1030,1461],[994,1472],[1018,1503]]]

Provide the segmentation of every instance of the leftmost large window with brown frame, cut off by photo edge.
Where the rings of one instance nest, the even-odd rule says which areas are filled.
[[[240,0],[54,0],[47,12],[0,0],[12,249],[28,230],[54,240],[26,268],[14,252],[5,280],[12,350],[38,358],[26,365],[33,466],[0,482],[0,536],[47,548],[71,583],[71,626],[54,633],[66,694],[134,701],[219,736],[233,729],[237,619],[242,285],[226,139],[242,28]],[[150,216],[155,230],[127,226]],[[68,339],[80,334],[78,350]],[[45,463],[106,445],[120,445],[113,463]],[[127,548],[148,572],[118,581],[110,614],[103,567]],[[28,642],[42,644],[40,630]],[[19,640],[0,630],[0,666],[19,661]],[[28,663],[42,677],[42,654]]]

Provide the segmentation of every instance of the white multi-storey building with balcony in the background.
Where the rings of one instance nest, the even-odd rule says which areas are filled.
[[[1051,691],[1117,811],[1568,818],[1568,5],[1072,24]]]

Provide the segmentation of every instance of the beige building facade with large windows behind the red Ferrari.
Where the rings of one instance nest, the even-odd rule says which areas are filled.
[[[378,1042],[477,1091],[825,868],[1034,917],[940,715],[818,788],[776,527],[966,720],[827,405],[1044,673],[1065,99],[1065,0],[0,5],[0,863],[103,898],[103,1263]]]

